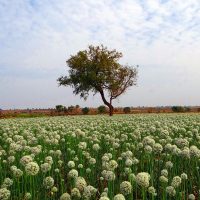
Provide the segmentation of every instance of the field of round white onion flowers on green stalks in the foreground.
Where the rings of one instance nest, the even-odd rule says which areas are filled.
[[[0,120],[0,200],[199,200],[200,115]]]

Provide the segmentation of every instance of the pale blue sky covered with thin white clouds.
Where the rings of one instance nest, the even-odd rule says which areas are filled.
[[[199,0],[0,0],[0,108],[102,105],[56,81],[90,44],[139,65],[114,106],[200,105]]]

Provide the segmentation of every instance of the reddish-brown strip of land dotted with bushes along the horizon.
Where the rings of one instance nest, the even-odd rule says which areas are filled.
[[[160,107],[116,107],[115,114],[140,114],[140,113],[199,113],[199,106],[160,106]],[[55,108],[35,108],[35,109],[0,109],[0,118],[15,118],[15,117],[43,117],[57,115],[96,115],[109,114],[107,106],[100,105],[97,108],[80,107],[79,105],[57,105]]]

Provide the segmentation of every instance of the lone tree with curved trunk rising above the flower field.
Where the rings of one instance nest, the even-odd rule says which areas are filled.
[[[99,93],[113,115],[113,99],[136,85],[137,68],[119,64],[122,53],[107,47],[89,46],[67,60],[68,76],[58,78],[59,85],[71,86],[75,95],[87,99],[89,92]]]

